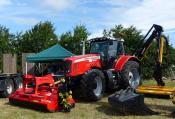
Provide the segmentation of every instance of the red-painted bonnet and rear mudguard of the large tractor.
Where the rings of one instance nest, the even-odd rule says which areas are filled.
[[[85,72],[87,72],[88,70],[91,70],[92,68],[102,69],[100,58],[96,60],[92,60],[91,62],[89,61],[93,59],[91,57],[95,57],[95,56],[100,57],[99,54],[87,54],[87,55],[80,55],[80,56],[66,58],[65,61],[72,61],[71,72],[66,74],[66,76],[71,77],[71,76],[83,75]],[[138,59],[130,55],[121,55],[119,59],[116,61],[116,65],[114,67],[115,71],[116,72],[121,71],[124,64],[129,60],[138,60]]]

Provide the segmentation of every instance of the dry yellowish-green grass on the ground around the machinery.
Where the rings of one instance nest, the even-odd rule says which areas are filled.
[[[155,81],[144,81],[144,85],[154,84]],[[175,82],[167,81],[167,85],[174,85]],[[137,119],[137,118],[172,118],[172,112],[175,105],[166,98],[145,97],[146,105],[157,115],[133,115],[124,114],[112,108],[107,101],[109,94],[98,102],[82,102],[78,101],[74,109],[70,113],[56,112],[46,113],[32,109],[12,106],[8,103],[8,99],[0,98],[0,119]]]

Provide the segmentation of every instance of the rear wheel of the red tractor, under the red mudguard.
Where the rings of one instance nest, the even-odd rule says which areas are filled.
[[[139,63],[128,61],[121,70],[122,88],[131,87],[136,89],[141,84]]]

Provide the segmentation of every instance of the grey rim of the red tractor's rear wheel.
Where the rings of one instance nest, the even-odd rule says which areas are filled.
[[[140,75],[137,69],[129,72],[129,85],[132,89],[136,89],[140,84]]]

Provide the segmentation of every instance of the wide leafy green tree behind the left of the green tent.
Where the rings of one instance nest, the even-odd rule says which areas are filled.
[[[55,28],[49,21],[36,24],[22,36],[18,35],[17,44],[20,52],[40,52],[58,42]]]

